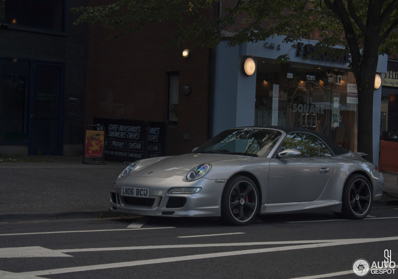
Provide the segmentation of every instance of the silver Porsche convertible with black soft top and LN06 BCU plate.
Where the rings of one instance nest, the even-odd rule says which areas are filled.
[[[378,168],[323,134],[293,127],[226,130],[190,154],[133,162],[116,179],[110,210],[169,217],[333,211],[362,219],[382,196]]]

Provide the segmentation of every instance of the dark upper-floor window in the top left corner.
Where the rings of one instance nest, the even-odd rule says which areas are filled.
[[[0,0],[0,20],[9,27],[65,31],[65,1]]]

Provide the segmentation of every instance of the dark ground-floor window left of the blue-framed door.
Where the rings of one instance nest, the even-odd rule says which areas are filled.
[[[0,58],[0,141],[27,141],[29,62]]]

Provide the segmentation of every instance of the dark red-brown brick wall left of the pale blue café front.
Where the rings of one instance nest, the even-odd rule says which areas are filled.
[[[154,23],[107,39],[110,31],[88,25],[85,125],[92,124],[93,116],[166,121],[168,72],[178,71],[179,118],[169,126],[166,155],[191,152],[207,140],[210,50],[193,49],[184,59],[187,46],[165,49],[173,28],[172,23]],[[189,96],[182,94],[185,85],[192,88]],[[189,132],[189,140],[183,140],[183,132]]]

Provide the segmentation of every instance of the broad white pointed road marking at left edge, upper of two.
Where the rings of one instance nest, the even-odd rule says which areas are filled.
[[[40,246],[0,248],[0,258],[73,257]]]

